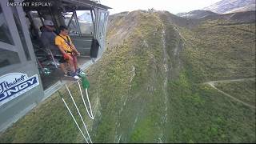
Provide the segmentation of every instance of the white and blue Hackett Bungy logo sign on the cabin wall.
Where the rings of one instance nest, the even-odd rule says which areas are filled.
[[[22,73],[10,73],[0,77],[0,106],[39,85],[38,75],[30,78]]]

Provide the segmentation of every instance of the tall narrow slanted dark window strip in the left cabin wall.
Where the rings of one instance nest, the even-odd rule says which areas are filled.
[[[17,11],[15,6],[12,6],[11,10],[12,10],[12,12],[14,14],[14,21],[15,21],[15,24],[16,24],[17,29],[18,29],[19,37],[21,38],[21,41],[22,41],[22,46],[23,46],[23,50],[24,50],[25,55],[26,55],[26,60],[30,61],[31,60],[31,58],[30,58],[30,51],[29,51],[29,49],[28,49],[28,47],[26,45],[26,39],[25,39],[23,30],[22,30],[22,23],[21,23],[21,21],[18,18],[18,11]]]

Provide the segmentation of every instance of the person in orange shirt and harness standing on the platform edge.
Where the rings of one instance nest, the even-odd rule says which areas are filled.
[[[73,42],[68,35],[68,30],[66,26],[59,27],[60,34],[55,38],[55,45],[58,46],[58,49],[61,50],[63,59],[68,62],[72,73],[70,76],[78,79],[78,73],[82,72],[80,68],[78,68],[78,60],[77,56],[80,56],[80,53],[75,48]]]

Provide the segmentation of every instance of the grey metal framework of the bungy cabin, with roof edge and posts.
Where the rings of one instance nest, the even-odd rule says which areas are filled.
[[[94,12],[94,34],[92,38],[97,38],[100,43],[101,49],[98,51],[98,57],[96,60],[101,58],[103,51],[105,50],[105,36],[106,36],[106,21],[108,18],[110,9],[108,6],[103,6],[94,1],[90,0],[14,0],[14,2],[51,2],[55,7],[22,7],[22,6],[6,6],[6,3],[10,2],[9,0],[1,0],[0,6],[2,9],[2,17],[5,18],[6,24],[10,31],[10,36],[14,40],[14,45],[10,45],[6,42],[2,42],[0,39],[0,52],[1,50],[10,50],[14,51],[18,54],[18,58],[20,62],[9,64],[8,66],[0,65],[0,84],[2,82],[2,76],[6,74],[12,73],[22,73],[26,74],[27,77],[31,77],[33,75],[38,75],[39,85],[35,86],[31,90],[27,90],[24,94],[17,96],[16,98],[12,98],[10,101],[0,104],[0,132],[6,130],[7,127],[11,126],[14,122],[16,122],[19,118],[22,118],[27,112],[32,110],[35,106],[38,105],[39,102],[42,102],[46,98],[48,98],[51,94],[56,92],[62,86],[65,86],[66,82],[56,82],[53,86],[50,86],[47,90],[43,90],[42,88],[42,80],[40,78],[39,70],[38,70],[38,62],[37,58],[34,54],[33,42],[30,38],[29,27],[26,24],[26,13],[30,10],[38,10],[40,13],[39,16],[43,15],[44,10],[48,10],[50,12],[51,17],[53,18],[53,22],[55,26],[65,25],[64,20],[62,19],[62,13],[64,12],[72,12],[74,10],[90,10],[91,15]],[[18,30],[17,22],[14,20],[14,13],[12,10],[17,10],[18,20],[22,27],[22,31]],[[42,12],[42,13],[41,13]],[[74,14],[74,17],[76,15]],[[103,18],[102,18],[103,17]],[[1,18],[1,15],[0,15]],[[42,21],[42,18],[40,18]],[[1,26],[0,26],[1,28]],[[1,29],[0,29],[1,30]],[[23,34],[24,38],[22,39],[19,34]],[[81,36],[81,35],[80,35]],[[74,44],[76,42],[74,37]],[[72,37],[71,37],[72,38]],[[87,42],[88,40],[83,40],[80,37],[80,42]],[[73,38],[72,38],[73,39]],[[23,43],[22,43],[23,42]],[[24,46],[22,44],[26,44],[28,48],[28,53],[30,58],[26,58],[26,51],[24,50]],[[89,41],[88,41],[89,42]],[[90,45],[90,44],[88,44]],[[78,46],[79,47],[79,46]],[[88,47],[87,49],[90,49]],[[86,49],[81,49],[86,50]],[[1,62],[1,58],[0,58]],[[94,62],[91,60],[84,63],[81,68],[85,69],[86,67],[92,65]],[[1,96],[1,87],[0,87],[0,96]],[[1,100],[1,98],[0,98]]]

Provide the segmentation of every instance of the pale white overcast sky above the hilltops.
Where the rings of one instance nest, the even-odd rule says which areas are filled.
[[[110,14],[132,10],[167,10],[172,14],[200,10],[221,0],[100,0],[103,5],[113,8]]]

